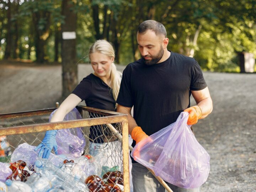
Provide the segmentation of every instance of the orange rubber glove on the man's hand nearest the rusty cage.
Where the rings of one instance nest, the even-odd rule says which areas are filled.
[[[132,139],[136,141],[137,148],[133,152],[134,160],[136,157],[140,157],[140,149],[146,144],[152,141],[152,139],[142,130],[141,127],[134,127],[132,130]]]

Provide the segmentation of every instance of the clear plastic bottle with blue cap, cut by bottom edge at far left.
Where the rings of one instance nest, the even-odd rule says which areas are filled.
[[[32,192],[31,187],[21,181],[12,181],[8,179],[5,181],[5,184],[8,187],[8,191],[11,192]]]

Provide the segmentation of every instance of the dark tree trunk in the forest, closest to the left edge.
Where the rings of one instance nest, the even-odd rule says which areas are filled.
[[[6,34],[6,47],[5,47],[5,55],[4,55],[4,59],[10,59],[11,58],[11,1],[8,1],[8,10],[7,10],[7,34]]]

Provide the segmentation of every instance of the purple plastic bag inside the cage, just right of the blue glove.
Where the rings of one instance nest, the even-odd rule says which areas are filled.
[[[55,111],[50,114],[49,122],[52,119]],[[82,119],[76,108],[66,114],[63,121],[75,119]],[[84,152],[84,146],[86,144],[84,134],[80,127],[58,130],[56,134],[56,142],[58,145],[58,154],[71,154],[75,157],[82,155]]]

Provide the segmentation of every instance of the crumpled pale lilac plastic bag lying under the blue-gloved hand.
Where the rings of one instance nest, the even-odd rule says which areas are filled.
[[[18,147],[12,152],[11,162],[15,162],[18,160],[25,161],[28,167],[34,165],[34,162],[38,159],[38,153],[40,149],[34,151],[36,146],[29,145],[27,143],[22,143],[18,145]],[[71,157],[67,157],[68,154],[63,155],[55,155],[50,153],[49,161],[51,161],[54,165],[59,166],[63,160],[70,159]]]

